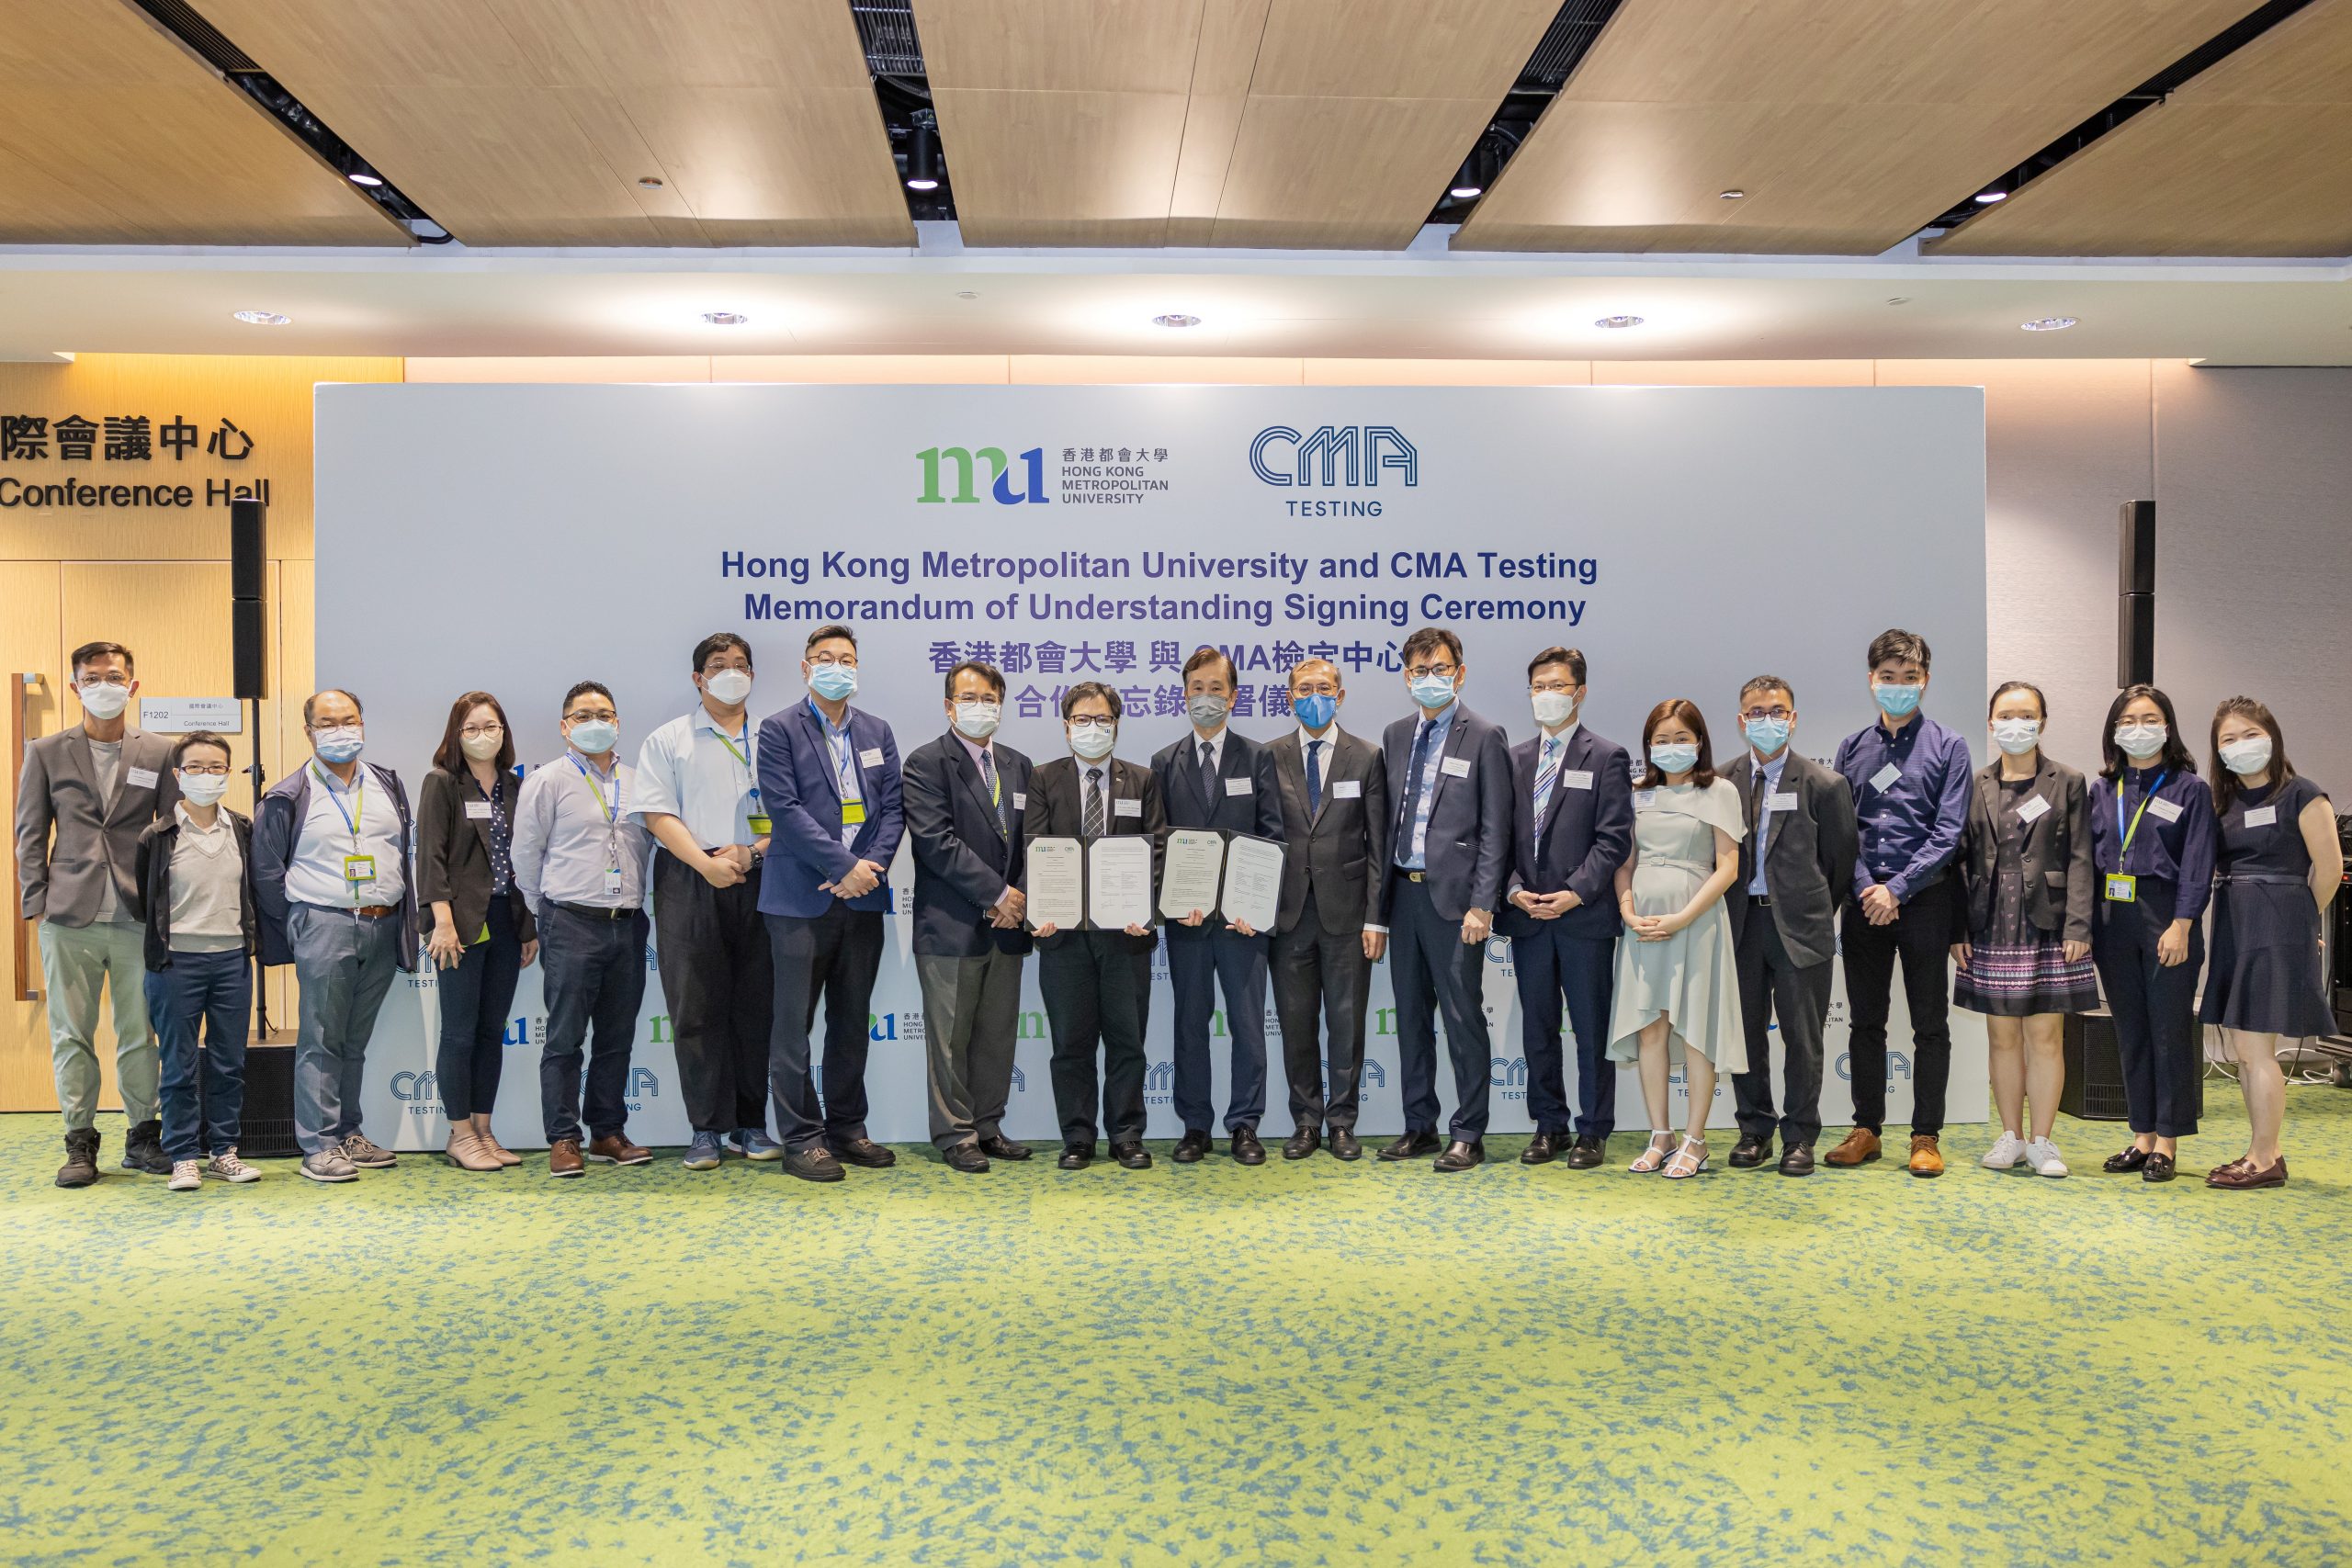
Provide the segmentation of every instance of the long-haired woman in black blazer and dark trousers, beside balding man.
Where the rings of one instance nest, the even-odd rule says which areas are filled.
[[[426,952],[437,966],[440,1058],[449,1164],[503,1171],[522,1159],[489,1131],[515,980],[539,957],[539,931],[515,889],[515,741],[487,691],[449,708],[433,771],[416,797],[416,898],[433,905]]]

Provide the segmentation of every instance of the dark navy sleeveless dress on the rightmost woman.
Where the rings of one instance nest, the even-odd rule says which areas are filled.
[[[2312,851],[2298,820],[2314,799],[2326,799],[2319,785],[2288,778],[2239,790],[2220,818],[2201,1023],[2291,1039],[2336,1032],[2319,973]]]

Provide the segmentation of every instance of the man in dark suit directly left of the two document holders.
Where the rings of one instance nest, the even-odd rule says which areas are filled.
[[[915,978],[931,1086],[931,1145],[976,1175],[1028,1159],[1004,1135],[1021,1027],[1021,959],[1030,936],[1021,893],[1021,816],[1030,759],[995,741],[1004,677],[964,661],[948,670],[950,731],[906,759],[906,837],[915,846]]]

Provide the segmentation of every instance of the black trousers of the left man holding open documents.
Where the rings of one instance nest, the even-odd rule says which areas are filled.
[[[1065,1145],[1094,1147],[1096,1095],[1110,1143],[1143,1140],[1141,990],[1150,954],[1129,952],[1129,940],[1124,931],[1068,931],[1037,945],[1037,990],[1054,1032],[1054,1112]]]

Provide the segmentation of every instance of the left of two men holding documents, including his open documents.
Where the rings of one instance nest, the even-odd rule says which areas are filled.
[[[1037,990],[1054,1032],[1063,1171],[1094,1164],[1096,1110],[1112,1159],[1129,1171],[1152,1164],[1143,1147],[1143,987],[1167,816],[1150,769],[1110,755],[1122,708],[1120,693],[1101,682],[1063,693],[1073,755],[1030,773],[1023,813],[1028,922],[1037,931]]]

